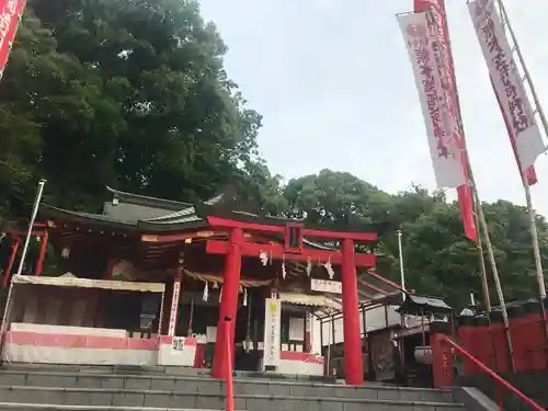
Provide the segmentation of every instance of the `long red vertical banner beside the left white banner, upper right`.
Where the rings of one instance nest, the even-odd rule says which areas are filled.
[[[458,99],[457,99],[457,88],[455,84],[455,68],[453,67],[453,56],[450,52],[449,44],[449,30],[447,25],[447,16],[445,14],[445,2],[444,0],[414,0],[414,12],[427,12],[432,14],[431,23],[431,35],[432,39],[436,43],[435,48],[437,49],[437,68],[442,76],[442,85],[444,90],[445,102],[448,105],[448,111],[454,117],[457,128],[455,130],[455,141],[457,147],[464,149],[464,137],[463,130],[460,129],[460,124],[458,124],[458,118],[460,117]],[[468,184],[468,162],[466,159],[466,152],[461,152],[461,173],[465,183],[457,187],[458,203],[460,205],[460,216],[463,219],[463,226],[465,229],[465,236],[471,241],[478,241],[478,233],[476,230],[476,221],[473,218],[473,204],[471,189]]]

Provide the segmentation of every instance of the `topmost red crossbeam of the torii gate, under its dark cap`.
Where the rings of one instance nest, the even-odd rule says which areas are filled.
[[[285,235],[286,230],[285,226],[271,226],[256,222],[243,222],[214,216],[207,216],[207,222],[213,227],[241,228],[242,230],[276,232],[281,235]],[[375,241],[377,239],[376,232],[341,232],[341,231],[315,230],[310,228],[305,228],[302,230],[302,236],[311,238],[331,239],[331,240],[350,239],[354,241]]]

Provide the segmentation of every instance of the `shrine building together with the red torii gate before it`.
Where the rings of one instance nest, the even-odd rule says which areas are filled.
[[[210,366],[221,377],[228,343],[237,369],[323,375],[312,322],[336,310],[346,384],[363,384],[359,307],[379,288],[362,275],[375,266],[385,224],[322,230],[242,212],[229,194],[190,204],[107,191],[101,214],[41,206],[42,238],[60,255],[59,277],[27,271],[36,279],[11,278],[12,290],[22,290],[2,321],[3,361],[73,363],[78,356],[56,353],[80,345],[146,350],[123,361],[98,351],[82,361]],[[392,288],[383,295],[399,292]],[[226,316],[230,332],[217,332]],[[21,354],[24,344],[32,355]]]

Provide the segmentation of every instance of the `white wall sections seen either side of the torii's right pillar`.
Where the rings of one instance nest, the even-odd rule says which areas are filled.
[[[400,315],[396,312],[398,306],[388,307],[388,326],[399,324]],[[379,330],[386,327],[385,319],[385,307],[375,308],[373,310],[366,311],[365,322],[367,326],[367,332]],[[339,318],[333,321],[334,328],[334,341],[333,343],[340,343],[344,341],[343,331],[343,320]],[[364,332],[364,321],[363,313],[359,312],[359,331]],[[331,339],[331,321],[323,322],[323,346],[329,345]],[[320,321],[317,318],[312,320],[312,346],[316,353],[320,353]]]

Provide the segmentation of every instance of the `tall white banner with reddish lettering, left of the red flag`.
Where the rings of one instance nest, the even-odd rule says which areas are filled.
[[[452,104],[446,48],[431,11],[398,16],[411,58],[437,186],[466,183],[455,109]]]

